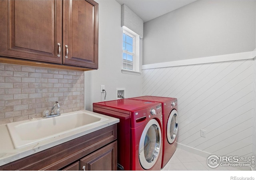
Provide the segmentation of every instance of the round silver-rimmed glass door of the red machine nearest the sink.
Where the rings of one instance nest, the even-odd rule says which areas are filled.
[[[158,159],[162,143],[161,128],[157,120],[150,120],[142,132],[139,159],[142,168],[150,169]]]

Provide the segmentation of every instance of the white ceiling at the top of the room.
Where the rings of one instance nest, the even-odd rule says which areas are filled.
[[[186,6],[196,0],[116,0],[119,4],[126,4],[143,22]]]

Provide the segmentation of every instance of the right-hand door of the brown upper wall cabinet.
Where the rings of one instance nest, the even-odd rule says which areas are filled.
[[[64,0],[63,64],[98,68],[98,3]]]

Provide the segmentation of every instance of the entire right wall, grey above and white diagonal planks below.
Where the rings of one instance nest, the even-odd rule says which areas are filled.
[[[222,156],[256,153],[255,60],[214,60],[255,49],[255,15],[256,1],[196,1],[144,23],[142,95],[178,98],[181,145]],[[193,58],[213,61],[182,64]]]

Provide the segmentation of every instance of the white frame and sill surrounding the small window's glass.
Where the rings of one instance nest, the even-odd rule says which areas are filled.
[[[124,74],[135,74],[135,75],[140,75],[140,36],[127,28],[126,26],[123,26],[123,32],[125,34],[128,34],[129,36],[134,37],[134,46],[133,46],[133,69],[128,70],[123,68],[123,60],[122,60],[122,73]],[[123,45],[123,43],[122,43]],[[124,51],[123,51],[124,52]],[[130,53],[128,53],[130,54]]]

